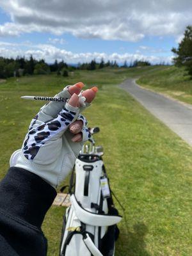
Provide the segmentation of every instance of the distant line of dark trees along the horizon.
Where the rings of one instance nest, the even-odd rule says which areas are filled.
[[[68,71],[73,70],[95,70],[104,67],[138,67],[138,66],[148,66],[150,63],[145,60],[134,60],[127,64],[127,61],[124,62],[124,65],[119,66],[115,61],[104,61],[103,59],[100,62],[92,60],[86,63],[78,63],[76,66],[68,65],[63,60],[55,60],[54,63],[48,64],[45,60],[35,60],[31,55],[30,58],[18,56],[16,59],[13,58],[3,58],[0,57],[0,78],[7,77],[20,77],[28,75],[39,75],[39,74],[50,74],[55,72],[58,76],[68,76]]]

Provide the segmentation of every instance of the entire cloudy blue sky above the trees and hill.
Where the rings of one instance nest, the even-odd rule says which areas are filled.
[[[0,56],[172,63],[191,0],[0,0]]]

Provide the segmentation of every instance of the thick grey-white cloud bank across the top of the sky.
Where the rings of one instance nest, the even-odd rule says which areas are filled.
[[[192,23],[191,0],[0,0],[12,22],[0,36],[32,31],[136,42],[145,36],[182,35]]]

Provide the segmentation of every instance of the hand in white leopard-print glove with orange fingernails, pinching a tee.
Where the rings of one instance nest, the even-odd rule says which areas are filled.
[[[68,98],[67,103],[49,102],[40,109],[29,125],[16,167],[39,175],[54,187],[65,179],[74,166],[83,141],[90,136],[81,111],[90,105],[97,88],[82,93],[86,102],[81,107],[77,94],[83,86],[83,83],[77,83],[65,87],[55,97]]]

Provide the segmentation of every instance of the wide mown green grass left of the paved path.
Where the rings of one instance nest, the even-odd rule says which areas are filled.
[[[178,136],[138,104],[116,84],[126,77],[156,72],[157,67],[77,72],[57,76],[22,77],[0,84],[1,178],[13,150],[20,147],[40,102],[20,95],[54,95],[63,84],[83,81],[98,84],[99,93],[86,110],[90,126],[104,146],[104,161],[111,187],[126,211],[120,223],[116,256],[187,256],[191,248],[192,150]],[[64,182],[65,183],[65,182]],[[121,214],[124,214],[116,204]],[[51,207],[42,229],[49,256],[58,255],[63,207]]]

